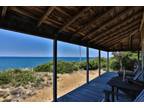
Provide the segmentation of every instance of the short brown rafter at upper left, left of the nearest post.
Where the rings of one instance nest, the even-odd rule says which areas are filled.
[[[44,20],[52,13],[52,11],[55,9],[55,6],[52,6],[52,7],[49,7],[47,9],[47,11],[44,13],[44,15],[41,17],[41,19],[39,20],[38,24],[37,24],[37,27],[39,27],[43,22]]]

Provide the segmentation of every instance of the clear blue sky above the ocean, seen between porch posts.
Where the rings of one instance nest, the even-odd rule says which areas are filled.
[[[0,56],[52,57],[52,42],[51,39],[0,29]],[[80,51],[85,57],[85,47],[58,41],[59,57],[79,57]],[[98,51],[90,48],[90,57],[96,56]],[[102,56],[106,57],[106,52],[102,51]]]

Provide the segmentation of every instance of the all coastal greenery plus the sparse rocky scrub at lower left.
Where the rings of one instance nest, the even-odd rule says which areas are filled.
[[[126,70],[133,70],[134,63],[137,61],[137,53],[122,52],[121,55],[114,53],[113,55],[110,57],[111,70],[118,71],[120,69],[120,58]],[[89,69],[96,71],[98,63],[98,57],[90,59]],[[60,60],[57,64],[57,72],[60,76],[65,76],[65,73],[74,76],[74,73],[77,72],[76,77],[79,77],[81,72],[85,72],[86,66],[86,61],[68,62]],[[104,57],[101,58],[101,68],[106,70],[106,58]],[[52,71],[53,62],[51,61],[33,69],[10,69],[0,72],[0,97],[2,97],[0,101],[22,101],[26,97],[34,95],[41,88],[51,87]],[[58,81],[62,78],[59,78],[59,75]]]

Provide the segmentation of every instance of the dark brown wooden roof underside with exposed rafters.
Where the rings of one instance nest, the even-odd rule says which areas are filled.
[[[141,49],[143,7],[0,7],[0,28],[107,51]]]

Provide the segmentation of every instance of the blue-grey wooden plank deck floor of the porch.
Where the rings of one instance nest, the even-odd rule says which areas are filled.
[[[117,76],[116,72],[107,72],[98,78],[84,84],[75,90],[58,98],[58,102],[100,102],[104,99],[104,89],[111,89],[107,82]],[[119,93],[118,101],[130,101],[124,94]]]

